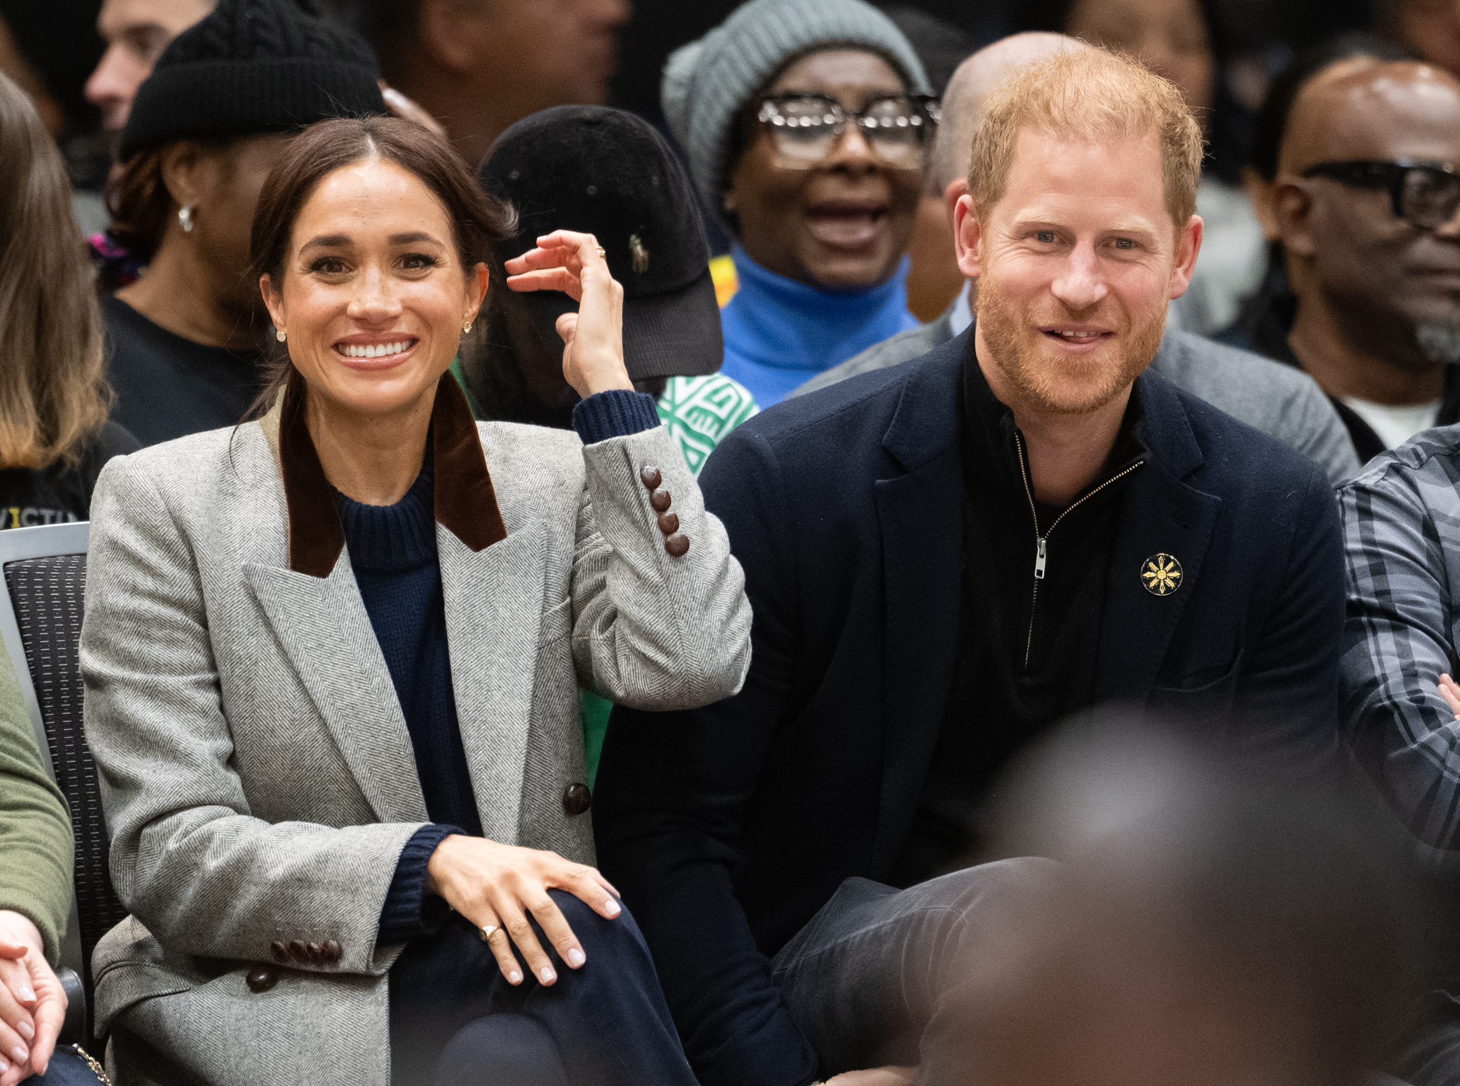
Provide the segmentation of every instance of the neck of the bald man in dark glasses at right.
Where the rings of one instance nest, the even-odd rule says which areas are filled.
[[[1444,396],[1444,362],[1426,362],[1413,333],[1391,337],[1393,350],[1378,353],[1345,334],[1332,307],[1315,296],[1298,302],[1288,346],[1304,371],[1329,396],[1350,396],[1384,404],[1431,403]]]

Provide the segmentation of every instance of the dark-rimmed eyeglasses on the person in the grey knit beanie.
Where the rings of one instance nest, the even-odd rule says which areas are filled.
[[[853,111],[825,95],[771,95],[756,120],[771,133],[785,166],[806,169],[831,155],[848,124],[872,153],[895,169],[923,165],[923,150],[940,118],[930,95],[886,95]]]

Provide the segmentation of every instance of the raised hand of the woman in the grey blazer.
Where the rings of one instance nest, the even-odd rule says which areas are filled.
[[[609,273],[591,234],[553,231],[537,248],[507,261],[512,290],[562,290],[578,312],[558,318],[562,336],[562,375],[587,398],[634,382],[623,366],[623,286]]]

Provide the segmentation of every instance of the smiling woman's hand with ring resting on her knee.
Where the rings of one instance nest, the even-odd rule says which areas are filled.
[[[587,960],[583,944],[548,890],[565,890],[607,920],[622,912],[619,892],[596,869],[564,860],[556,852],[485,838],[460,833],[445,838],[431,854],[426,876],[432,893],[491,933],[486,943],[510,984],[523,982],[514,943],[533,977],[542,984],[558,979],[529,917],[537,921],[568,968],[577,969]]]

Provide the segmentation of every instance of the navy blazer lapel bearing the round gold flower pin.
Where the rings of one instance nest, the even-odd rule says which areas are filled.
[[[1146,701],[1196,591],[1222,508],[1221,498],[1183,482],[1202,466],[1202,451],[1175,390],[1159,377],[1139,381],[1153,455],[1124,495],[1111,552],[1095,669],[1096,704]],[[1148,591],[1140,577],[1155,555],[1171,555],[1181,563],[1181,584],[1168,596]]]

